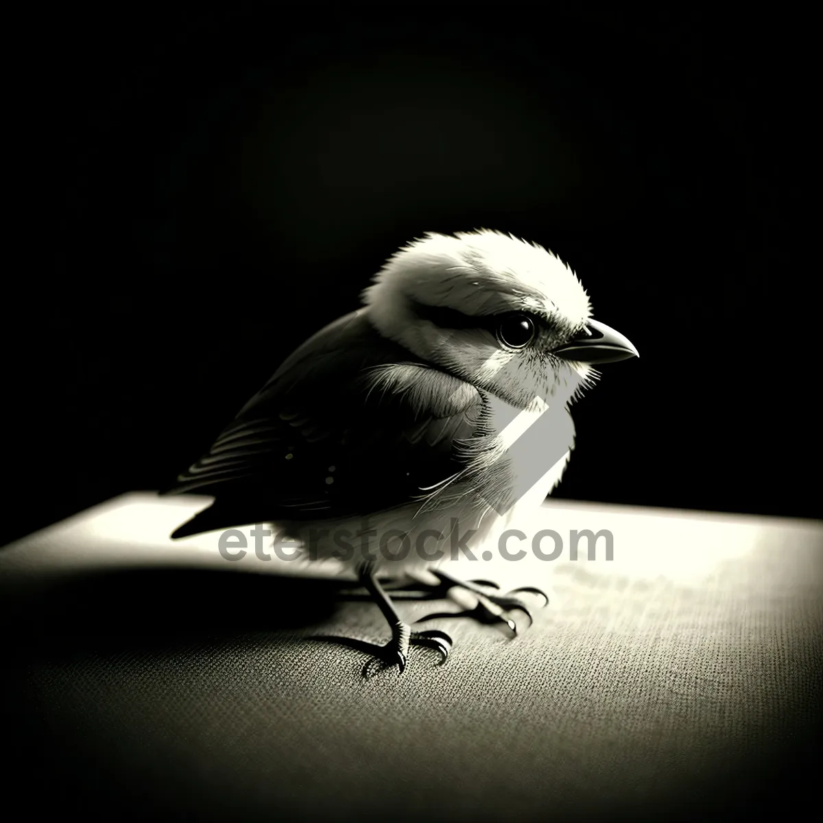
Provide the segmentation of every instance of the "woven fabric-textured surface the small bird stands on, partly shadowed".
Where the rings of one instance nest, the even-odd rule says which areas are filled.
[[[790,814],[815,788],[819,523],[546,504],[523,532],[608,528],[613,560],[460,561],[551,604],[514,640],[434,621],[446,665],[415,650],[365,679],[308,638],[386,639],[374,606],[277,562],[231,573],[253,555],[175,555],[169,505],[134,495],[0,550],[6,795],[29,813],[686,820]]]

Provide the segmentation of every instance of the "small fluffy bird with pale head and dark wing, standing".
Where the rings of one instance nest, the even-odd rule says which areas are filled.
[[[402,673],[411,645],[444,663],[452,640],[413,631],[381,581],[467,589],[473,616],[516,633],[506,615],[531,617],[516,594],[536,589],[489,593],[495,584],[453,578],[439,560],[542,504],[574,449],[570,406],[597,379],[593,365],[638,352],[592,319],[554,253],[495,230],[426,234],[361,297],[163,493],[214,497],[174,539],[272,523],[309,560],[343,560],[392,630],[385,645],[351,645]]]

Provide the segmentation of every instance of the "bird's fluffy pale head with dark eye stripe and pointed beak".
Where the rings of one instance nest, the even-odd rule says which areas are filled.
[[[498,231],[413,241],[363,300],[384,337],[518,408],[572,402],[597,378],[594,364],[638,356],[592,319],[565,263]]]

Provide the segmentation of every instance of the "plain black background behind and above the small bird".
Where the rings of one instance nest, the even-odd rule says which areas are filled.
[[[399,245],[481,226],[569,261],[641,354],[579,403],[558,496],[816,516],[797,29],[50,14],[21,73],[36,240],[7,292],[3,541],[164,486]]]

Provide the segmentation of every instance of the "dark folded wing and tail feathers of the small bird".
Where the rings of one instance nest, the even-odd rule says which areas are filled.
[[[292,354],[167,494],[213,495],[174,537],[369,514],[421,500],[465,467],[481,395],[374,330],[367,310]]]

